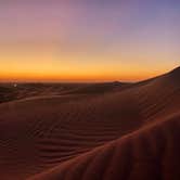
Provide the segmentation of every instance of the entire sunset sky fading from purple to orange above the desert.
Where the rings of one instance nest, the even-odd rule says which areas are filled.
[[[0,81],[137,81],[180,65],[179,0],[1,0]]]

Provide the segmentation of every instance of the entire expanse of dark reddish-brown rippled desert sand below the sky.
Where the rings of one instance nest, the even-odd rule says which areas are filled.
[[[1,180],[180,180],[180,67],[137,83],[0,85]]]

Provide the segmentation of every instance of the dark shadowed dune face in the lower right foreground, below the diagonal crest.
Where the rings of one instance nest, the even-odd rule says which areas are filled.
[[[31,177],[56,179],[179,179],[180,114]],[[93,178],[92,178],[93,177]]]

